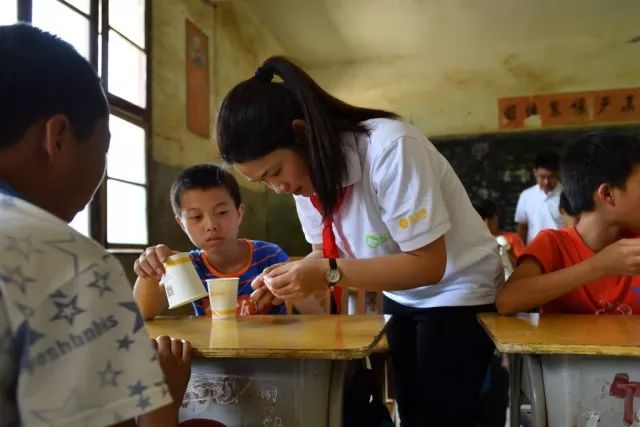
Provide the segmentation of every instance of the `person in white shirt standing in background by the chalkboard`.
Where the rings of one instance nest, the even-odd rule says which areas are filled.
[[[525,244],[529,244],[540,230],[557,230],[563,225],[559,211],[562,192],[562,184],[558,181],[559,171],[558,153],[538,153],[533,166],[536,183],[520,193],[516,206],[515,222]]]

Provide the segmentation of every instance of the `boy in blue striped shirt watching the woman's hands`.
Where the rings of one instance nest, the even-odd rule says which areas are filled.
[[[233,175],[210,164],[191,166],[174,181],[170,198],[176,222],[196,247],[190,253],[191,261],[205,289],[207,279],[238,277],[239,316],[286,313],[284,304],[261,305],[250,298],[253,279],[288,257],[273,243],[238,239],[244,205]],[[134,264],[138,279],[133,294],[145,319],[168,307],[160,278],[164,274],[162,263],[174,253],[164,244],[152,246]],[[312,303],[307,301],[307,305]],[[198,316],[210,315],[209,297],[195,301],[193,308]],[[318,303],[316,310],[321,311]]]

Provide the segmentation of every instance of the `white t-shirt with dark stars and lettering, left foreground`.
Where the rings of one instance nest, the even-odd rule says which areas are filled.
[[[170,402],[120,263],[0,194],[0,424],[107,426]]]

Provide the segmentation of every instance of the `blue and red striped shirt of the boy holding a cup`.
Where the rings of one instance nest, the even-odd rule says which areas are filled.
[[[202,280],[202,285],[207,289],[207,279],[219,279],[223,277],[238,277],[238,316],[251,314],[286,314],[287,309],[284,304],[272,306],[259,306],[251,300],[249,295],[253,292],[251,282],[270,265],[284,262],[289,259],[287,254],[276,244],[263,242],[261,240],[246,240],[249,244],[249,262],[239,271],[232,273],[221,273],[211,264],[207,253],[202,249],[194,249],[191,261]],[[209,307],[209,297],[205,297],[193,302],[196,316],[211,314]]]

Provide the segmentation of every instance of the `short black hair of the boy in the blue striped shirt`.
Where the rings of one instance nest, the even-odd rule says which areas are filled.
[[[236,208],[242,204],[238,181],[226,170],[211,164],[200,164],[186,168],[176,177],[171,185],[171,207],[176,216],[180,216],[182,194],[194,188],[224,187],[233,199]]]

